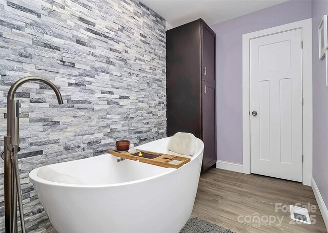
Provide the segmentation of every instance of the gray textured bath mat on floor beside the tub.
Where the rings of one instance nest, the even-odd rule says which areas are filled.
[[[231,230],[215,225],[208,221],[193,217],[188,220],[180,233],[234,233]]]

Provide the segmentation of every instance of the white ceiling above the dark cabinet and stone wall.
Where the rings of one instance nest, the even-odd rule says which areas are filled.
[[[198,18],[213,25],[286,1],[288,0],[141,0],[166,19],[167,30]]]

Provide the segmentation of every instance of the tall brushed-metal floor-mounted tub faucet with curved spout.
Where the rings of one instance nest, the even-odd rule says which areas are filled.
[[[48,84],[55,92],[59,104],[63,98],[58,88],[46,78],[25,77],[16,81],[9,89],[7,96],[7,136],[4,137],[4,186],[5,186],[5,229],[8,233],[16,233],[17,229],[17,199],[20,215],[20,226],[25,233],[22,189],[20,188],[18,158],[19,147],[19,102],[14,100],[17,88],[25,82],[39,81]]]

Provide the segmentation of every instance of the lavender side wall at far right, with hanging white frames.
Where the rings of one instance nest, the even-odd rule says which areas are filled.
[[[325,86],[325,59],[318,58],[318,25],[325,14],[328,14],[328,1],[312,1],[313,178],[328,206],[328,88]]]

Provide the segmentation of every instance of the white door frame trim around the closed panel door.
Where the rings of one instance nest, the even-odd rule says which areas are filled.
[[[294,29],[302,29],[303,88],[303,184],[312,178],[312,18],[242,35],[242,163],[243,173],[251,174],[250,133],[250,40]],[[301,99],[300,99],[301,101]]]

